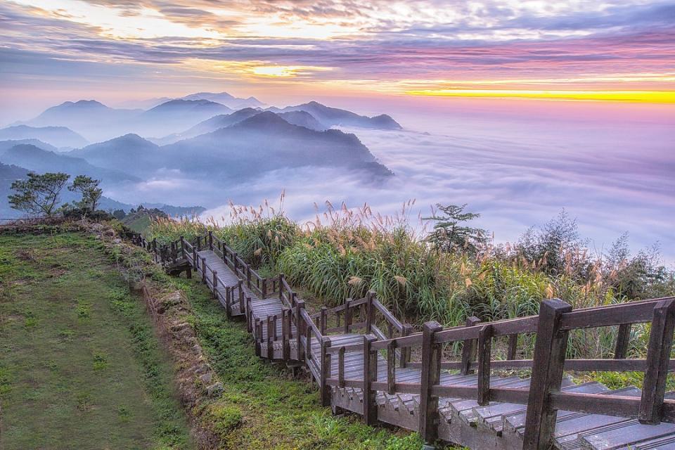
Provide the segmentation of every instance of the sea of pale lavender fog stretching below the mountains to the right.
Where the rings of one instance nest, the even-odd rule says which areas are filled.
[[[278,202],[295,219],[313,219],[314,203],[368,203],[393,214],[416,199],[416,221],[434,203],[468,203],[498,241],[515,240],[565,208],[600,250],[624,231],[631,246],[660,243],[675,260],[675,115],[659,105],[546,101],[429,101],[386,105],[404,131],[350,129],[396,174],[384,185],[330,169],[271,172],[246,185],[162,174],[106,195],[174,205],[203,205],[203,217],[228,202]],[[431,108],[429,106],[432,106]],[[388,109],[386,109],[388,108]],[[352,108],[356,109],[356,108]],[[383,110],[385,109],[385,110]],[[371,111],[363,111],[371,113]]]

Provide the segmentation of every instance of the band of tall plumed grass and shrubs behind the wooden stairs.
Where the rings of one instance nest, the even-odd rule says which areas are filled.
[[[576,222],[564,212],[514,245],[485,239],[446,245],[452,236],[443,233],[461,224],[420,234],[405,217],[405,211],[397,219],[373,214],[367,206],[353,211],[329,205],[316,221],[297,224],[269,206],[233,207],[229,225],[160,220],[149,235],[169,243],[211,230],[263,274],[285,274],[322,304],[375,290],[397,315],[416,324],[433,319],[456,326],[471,315],[485,321],[528,316],[551,297],[576,309],[675,293],[674,275],[656,252],[631,256],[622,236],[605,254],[591,255]],[[448,240],[430,239],[434,236]],[[570,356],[607,356],[612,333],[573,335]],[[634,333],[640,338],[641,328],[634,327]]]

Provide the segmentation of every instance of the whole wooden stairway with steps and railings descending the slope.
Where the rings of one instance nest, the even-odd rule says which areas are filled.
[[[151,250],[158,254],[156,245]],[[551,300],[539,316],[472,318],[446,330],[427,323],[422,333],[411,333],[372,294],[309,314],[283,276],[260,277],[210,235],[194,245],[173,243],[170,253],[203,279],[229,315],[245,317],[259,356],[307,368],[334,413],[351,411],[366,423],[475,450],[675,450],[675,395],[665,392],[673,298],[577,311]],[[652,323],[648,357],[625,359],[630,326],[641,322]],[[617,357],[566,361],[561,342],[568,330],[594,326],[619,326]],[[534,360],[515,359],[513,336],[525,333],[537,335]],[[508,338],[508,360],[493,361],[490,345],[500,336]],[[452,342],[463,343],[461,361],[442,360],[443,346]],[[415,346],[421,361],[411,361]],[[496,375],[512,368],[532,368],[532,378]],[[576,385],[564,370],[645,371],[645,393]]]

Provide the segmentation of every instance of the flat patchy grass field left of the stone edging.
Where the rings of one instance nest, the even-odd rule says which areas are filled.
[[[93,237],[0,236],[0,448],[192,449],[141,300]]]

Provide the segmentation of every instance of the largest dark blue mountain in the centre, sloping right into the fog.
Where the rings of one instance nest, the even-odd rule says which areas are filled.
[[[164,146],[162,152],[168,158],[167,165],[214,179],[223,176],[245,179],[269,170],[304,166],[392,174],[354,134],[298,127],[270,111]]]

